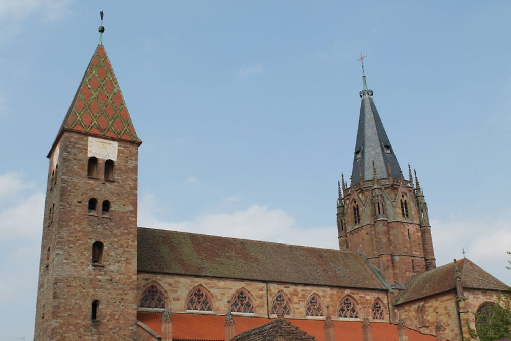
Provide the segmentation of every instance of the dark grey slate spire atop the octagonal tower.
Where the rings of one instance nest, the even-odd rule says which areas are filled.
[[[402,178],[398,159],[394,155],[373,102],[373,90],[367,88],[365,74],[362,75],[362,80],[364,87],[360,91],[362,104],[360,106],[355,156],[353,158],[353,183],[360,182],[361,177],[363,177],[362,180],[373,179],[373,162],[379,179],[388,178],[390,176],[389,170],[393,177]]]

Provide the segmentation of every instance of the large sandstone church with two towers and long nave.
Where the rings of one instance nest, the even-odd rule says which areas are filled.
[[[508,287],[469,259],[437,266],[419,179],[362,81],[338,250],[138,227],[142,141],[100,39],[48,154],[35,339],[467,337]]]

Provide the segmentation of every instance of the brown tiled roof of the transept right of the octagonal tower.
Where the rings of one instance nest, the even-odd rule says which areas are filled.
[[[508,286],[499,281],[467,258],[456,261],[461,274],[463,288],[485,290],[508,290]],[[405,290],[396,298],[395,305],[417,300],[423,297],[443,293],[456,287],[454,277],[455,264],[448,263],[436,269],[413,277]]]

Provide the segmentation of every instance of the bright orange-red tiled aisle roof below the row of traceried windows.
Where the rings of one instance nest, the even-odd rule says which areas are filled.
[[[161,333],[161,314],[139,312],[138,320]],[[236,333],[260,327],[273,319],[234,316]],[[324,320],[286,319],[300,330],[324,341]],[[204,340],[217,341],[225,339],[225,316],[200,314],[172,314],[172,338],[174,340]],[[357,341],[363,339],[362,322],[358,321],[332,321],[337,339]],[[159,325],[158,325],[159,324]],[[374,341],[396,341],[399,338],[398,327],[390,323],[371,323]],[[408,329],[408,341],[434,341],[436,338],[429,334],[421,334],[416,330]]]

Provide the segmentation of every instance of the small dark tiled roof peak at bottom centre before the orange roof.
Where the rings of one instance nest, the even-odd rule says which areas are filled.
[[[233,341],[269,341],[269,340],[311,340],[315,337],[293,326],[289,321],[277,319],[236,335]]]

